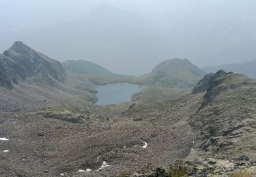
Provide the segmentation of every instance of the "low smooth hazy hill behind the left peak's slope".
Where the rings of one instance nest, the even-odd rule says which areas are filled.
[[[83,60],[69,60],[62,63],[68,71],[76,74],[92,74],[96,76],[116,76],[113,72],[105,69],[104,67]]]

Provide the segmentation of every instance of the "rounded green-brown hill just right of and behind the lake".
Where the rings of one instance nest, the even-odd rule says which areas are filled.
[[[194,86],[205,72],[188,59],[171,59],[159,63],[150,74],[141,76],[144,82],[162,86]]]

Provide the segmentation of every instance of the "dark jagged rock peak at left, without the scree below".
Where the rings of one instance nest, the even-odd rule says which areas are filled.
[[[66,70],[59,63],[37,52],[22,42],[14,42],[9,50],[0,54],[0,86],[12,88],[19,80],[46,83],[64,82]]]

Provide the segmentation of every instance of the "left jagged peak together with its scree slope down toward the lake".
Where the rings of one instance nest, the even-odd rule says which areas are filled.
[[[0,103],[3,110],[35,109],[97,101],[94,85],[22,42],[0,54]],[[74,99],[76,101],[74,101]]]

